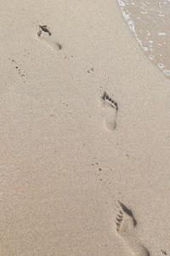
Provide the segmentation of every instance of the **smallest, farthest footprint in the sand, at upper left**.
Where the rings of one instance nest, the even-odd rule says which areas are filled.
[[[39,30],[37,32],[37,38],[41,39],[43,42],[51,46],[53,49],[62,49],[61,44],[56,42],[52,36],[52,33],[49,31],[47,25],[39,25]]]

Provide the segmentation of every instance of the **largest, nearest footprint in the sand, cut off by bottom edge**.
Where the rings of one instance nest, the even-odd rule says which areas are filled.
[[[118,201],[116,213],[116,233],[127,244],[129,250],[134,256],[150,256],[146,247],[139,241],[135,233],[135,226],[137,225],[136,219],[131,212],[122,202]]]

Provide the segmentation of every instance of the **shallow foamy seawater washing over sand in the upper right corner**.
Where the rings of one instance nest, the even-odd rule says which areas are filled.
[[[170,0],[117,0],[145,55],[170,79]]]

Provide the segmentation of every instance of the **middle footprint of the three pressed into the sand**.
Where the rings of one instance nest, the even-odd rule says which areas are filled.
[[[106,92],[101,96],[101,101],[105,111],[105,127],[110,131],[116,130],[117,103]]]

